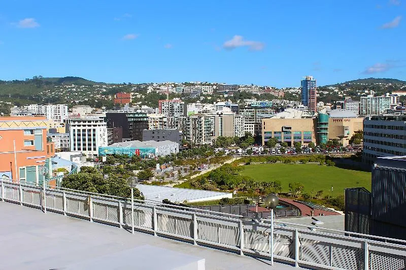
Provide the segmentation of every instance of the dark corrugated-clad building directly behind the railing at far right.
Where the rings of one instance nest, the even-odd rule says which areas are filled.
[[[346,230],[406,240],[406,156],[377,158],[371,183],[346,189]]]

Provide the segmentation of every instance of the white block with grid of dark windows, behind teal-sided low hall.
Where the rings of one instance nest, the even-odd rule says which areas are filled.
[[[71,119],[70,137],[71,151],[96,157],[98,147],[107,146],[107,124],[104,119]]]

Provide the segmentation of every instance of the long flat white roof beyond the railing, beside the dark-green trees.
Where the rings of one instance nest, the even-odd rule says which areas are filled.
[[[228,192],[143,184],[138,184],[136,187],[143,192],[145,199],[158,202],[162,202],[164,199],[183,203],[184,201],[202,202],[232,198],[232,193]]]

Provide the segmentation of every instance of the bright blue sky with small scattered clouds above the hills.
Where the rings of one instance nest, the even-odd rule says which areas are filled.
[[[406,0],[2,2],[2,80],[406,80]]]

